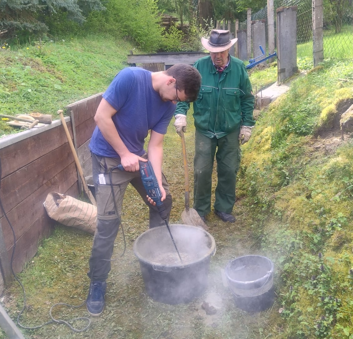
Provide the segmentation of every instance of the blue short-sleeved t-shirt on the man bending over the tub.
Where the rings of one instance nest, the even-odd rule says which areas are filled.
[[[121,70],[103,93],[103,98],[116,109],[112,120],[122,142],[136,155],[143,155],[148,130],[166,134],[175,111],[171,101],[163,101],[152,87],[151,72],[139,67]],[[119,157],[96,126],[91,151],[100,156]]]

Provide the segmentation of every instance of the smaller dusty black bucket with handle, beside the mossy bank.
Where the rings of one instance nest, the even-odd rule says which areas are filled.
[[[273,262],[261,255],[245,255],[228,262],[226,277],[235,304],[248,312],[269,309],[274,303]]]

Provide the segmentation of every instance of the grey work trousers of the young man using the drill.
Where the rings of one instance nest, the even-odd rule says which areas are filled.
[[[142,157],[147,159],[147,154]],[[146,190],[142,184],[140,172],[126,172],[114,168],[118,165],[120,165],[120,158],[102,157],[92,153],[92,175],[97,197],[97,230],[89,259],[90,269],[87,273],[92,281],[103,281],[108,278],[110,258],[113,255],[114,241],[120,226],[122,201],[129,183],[149,207],[149,227],[165,225],[157,207],[151,205],[146,198]],[[104,177],[103,179],[101,176],[101,183],[99,183],[99,174],[103,174]],[[102,183],[104,180],[105,184]],[[163,203],[167,211],[167,221],[169,221],[172,196],[163,173],[162,185],[166,191],[166,199]]]

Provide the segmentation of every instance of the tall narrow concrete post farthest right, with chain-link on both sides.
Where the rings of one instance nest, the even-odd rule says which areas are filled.
[[[312,0],[314,67],[324,60],[323,0]]]

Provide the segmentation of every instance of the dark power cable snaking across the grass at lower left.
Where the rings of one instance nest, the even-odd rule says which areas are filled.
[[[1,159],[0,159],[0,189],[1,189],[1,176],[2,176],[2,167],[1,167]],[[0,190],[1,191],[1,190]],[[38,325],[38,326],[34,326],[34,327],[28,327],[28,326],[24,326],[21,324],[20,322],[20,316],[22,315],[23,311],[25,310],[26,308],[26,292],[25,292],[25,289],[24,289],[24,286],[22,285],[21,281],[18,279],[17,275],[15,274],[14,270],[13,270],[13,266],[12,266],[12,262],[13,262],[13,256],[14,256],[14,253],[15,253],[15,249],[16,249],[16,235],[15,235],[15,231],[12,227],[12,224],[10,222],[10,220],[7,218],[7,215],[6,215],[6,212],[5,212],[5,209],[4,209],[4,206],[2,205],[2,201],[1,201],[1,198],[0,198],[0,207],[1,207],[1,210],[2,212],[4,213],[4,216],[8,222],[8,224],[10,225],[10,228],[11,228],[11,231],[12,231],[12,234],[13,234],[13,249],[12,249],[12,254],[11,254],[11,260],[10,260],[10,268],[11,268],[11,273],[13,274],[14,278],[17,280],[17,282],[19,283],[19,285],[21,286],[22,288],[22,291],[23,291],[23,307],[22,309],[20,310],[18,316],[17,316],[17,324],[18,326],[24,328],[24,329],[36,329],[36,328],[40,328],[40,327],[43,327],[45,325],[49,325],[51,323],[63,323],[63,324],[66,324],[68,327],[70,327],[72,329],[72,331],[74,332],[82,332],[82,331],[86,331],[89,326],[91,325],[91,320],[88,318],[88,317],[78,317],[78,318],[74,318],[74,319],[71,319],[70,322],[73,322],[73,321],[77,321],[77,320],[83,320],[83,321],[86,321],[88,324],[81,328],[81,329],[77,329],[77,328],[74,328],[68,321],[65,321],[65,320],[58,320],[58,319],[55,319],[53,316],[52,316],[52,310],[54,307],[58,306],[58,305],[65,305],[67,307],[70,307],[70,308],[79,308],[79,307],[82,307],[85,303],[83,302],[81,305],[78,305],[78,306],[73,306],[73,305],[69,305],[69,304],[65,304],[65,303],[57,303],[57,304],[54,304],[51,308],[50,308],[50,311],[49,311],[49,315],[50,317],[52,318],[52,320],[49,320],[47,321],[46,323],[43,323],[42,325]]]

